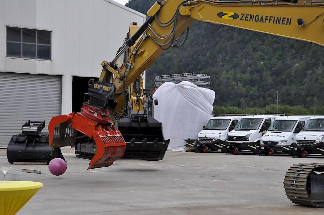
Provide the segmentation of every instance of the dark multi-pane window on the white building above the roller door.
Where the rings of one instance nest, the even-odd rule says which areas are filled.
[[[51,31],[7,27],[7,57],[51,59]]]

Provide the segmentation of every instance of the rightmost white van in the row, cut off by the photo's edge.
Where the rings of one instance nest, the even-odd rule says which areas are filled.
[[[324,156],[324,116],[314,116],[296,135],[294,151],[303,158],[308,154]]]

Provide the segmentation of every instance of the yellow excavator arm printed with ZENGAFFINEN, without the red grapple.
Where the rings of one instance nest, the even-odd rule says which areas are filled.
[[[184,31],[195,20],[324,45],[324,1],[162,0],[151,7],[148,16],[138,31],[125,41],[115,59],[102,63],[99,81],[112,83],[114,93],[111,98],[117,100],[116,109],[119,110],[125,103],[123,90],[164,50],[173,46],[174,41],[186,40]],[[120,57],[127,59],[118,67],[115,62]],[[107,78],[111,77],[109,73],[114,74],[110,80]]]

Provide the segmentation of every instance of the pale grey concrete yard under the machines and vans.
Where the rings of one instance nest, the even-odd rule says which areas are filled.
[[[87,170],[89,160],[64,148],[68,169],[53,176],[47,165],[11,165],[8,179],[44,187],[18,215],[323,215],[292,204],[285,171],[295,163],[324,162],[289,156],[166,152],[161,162],[118,160]],[[8,165],[0,150],[0,166]],[[41,170],[41,174],[21,169]]]

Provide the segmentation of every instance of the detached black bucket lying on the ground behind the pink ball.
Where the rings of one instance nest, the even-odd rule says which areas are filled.
[[[46,162],[54,158],[64,159],[60,148],[48,146],[48,133],[41,133],[45,121],[25,122],[21,133],[13,135],[7,147],[7,159],[13,162]],[[65,160],[65,159],[64,159]]]

